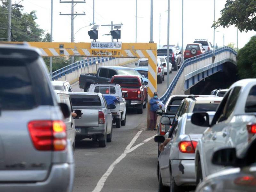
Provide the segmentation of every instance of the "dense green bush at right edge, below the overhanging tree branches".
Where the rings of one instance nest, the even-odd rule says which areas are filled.
[[[256,78],[256,36],[237,53],[237,68],[240,78]]]

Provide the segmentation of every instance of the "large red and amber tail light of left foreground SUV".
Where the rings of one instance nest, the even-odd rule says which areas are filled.
[[[31,121],[28,130],[37,150],[62,151],[67,146],[66,125],[63,121]]]

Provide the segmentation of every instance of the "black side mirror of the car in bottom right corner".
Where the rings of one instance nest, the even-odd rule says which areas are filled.
[[[236,148],[223,148],[215,151],[212,155],[212,164],[238,167],[240,162],[236,157]]]

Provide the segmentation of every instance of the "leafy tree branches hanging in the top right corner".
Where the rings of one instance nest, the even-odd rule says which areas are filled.
[[[256,1],[255,0],[227,0],[225,8],[221,10],[221,17],[212,27],[229,27],[235,25],[242,31],[256,31]]]

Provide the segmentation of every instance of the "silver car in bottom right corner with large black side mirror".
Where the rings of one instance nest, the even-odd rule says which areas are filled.
[[[196,192],[255,192],[256,191],[256,139],[244,150],[243,157],[236,156],[236,148],[222,148],[215,151],[212,163],[232,166],[213,173],[200,183]]]

